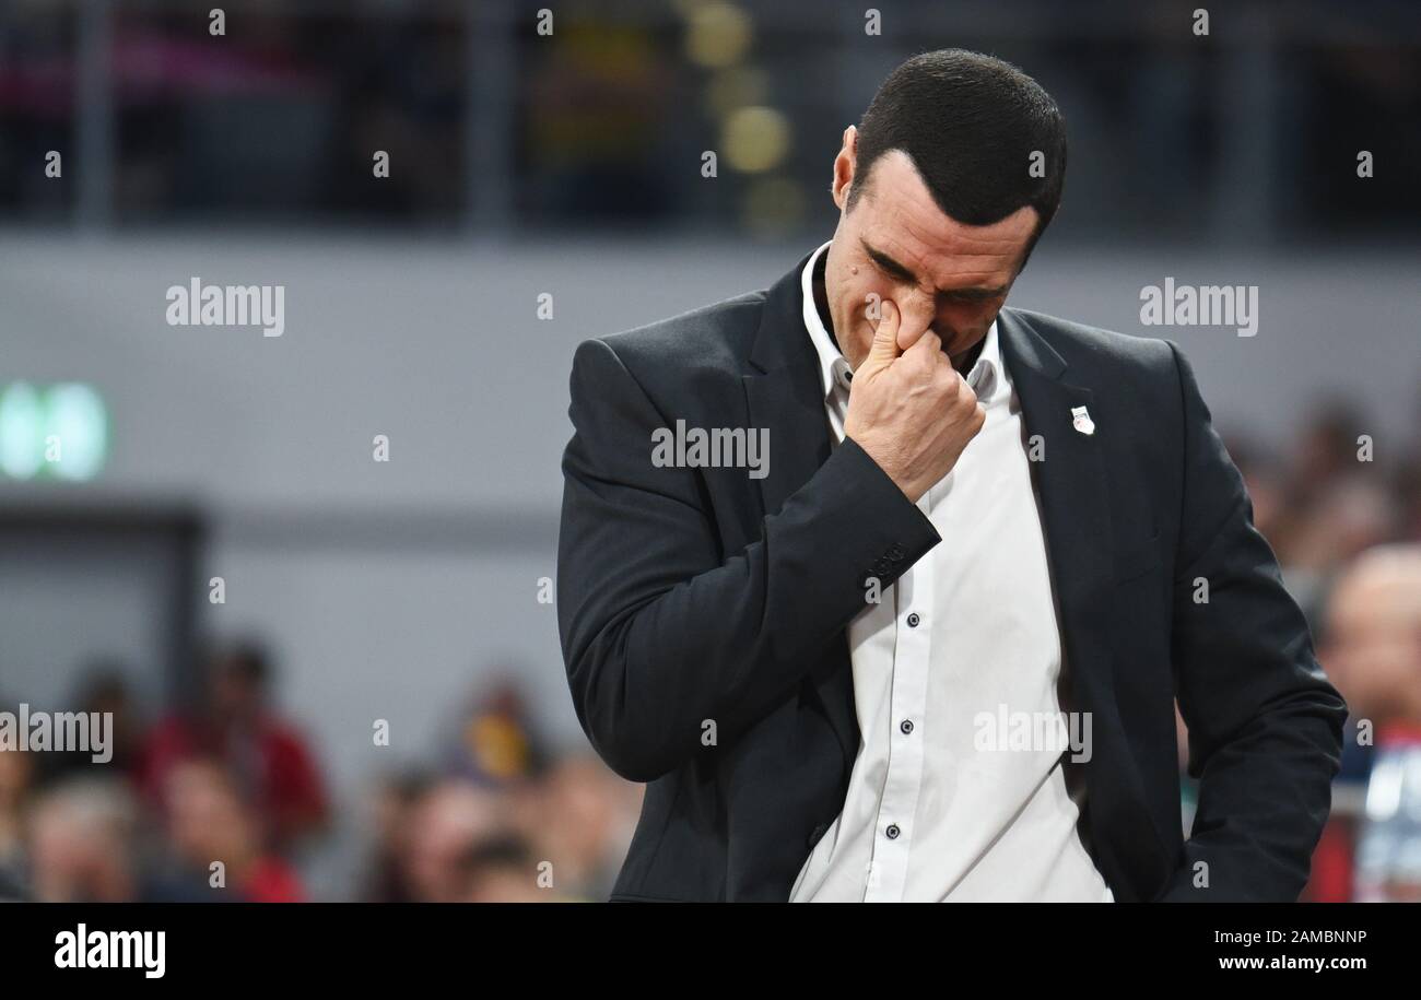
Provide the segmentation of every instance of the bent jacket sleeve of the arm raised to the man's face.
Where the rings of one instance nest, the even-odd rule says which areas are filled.
[[[557,605],[577,717],[622,777],[654,780],[783,702],[864,608],[938,543],[931,521],[851,440],[759,541],[722,553],[695,469],[652,464],[668,420],[610,345],[573,362]],[[776,447],[794,442],[770,440]],[[755,489],[746,479],[747,489]]]

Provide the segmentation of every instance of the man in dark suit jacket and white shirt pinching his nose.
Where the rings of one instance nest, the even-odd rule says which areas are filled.
[[[1346,707],[1175,347],[1003,308],[1064,165],[1033,80],[918,55],[833,240],[578,348],[563,649],[648,783],[614,899],[1297,896]]]

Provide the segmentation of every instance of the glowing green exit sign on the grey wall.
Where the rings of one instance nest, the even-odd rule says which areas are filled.
[[[0,385],[0,476],[94,479],[108,457],[108,411],[82,382]]]

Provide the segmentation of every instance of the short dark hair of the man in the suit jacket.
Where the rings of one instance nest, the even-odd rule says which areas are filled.
[[[1010,62],[942,48],[899,65],[878,88],[858,124],[858,155],[848,189],[853,210],[878,159],[901,149],[949,217],[988,226],[1030,205],[1036,232],[1026,257],[1061,202],[1066,121],[1040,84]],[[1032,155],[1044,176],[1032,176]]]

